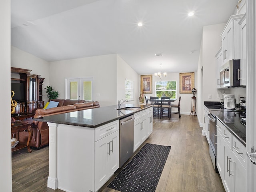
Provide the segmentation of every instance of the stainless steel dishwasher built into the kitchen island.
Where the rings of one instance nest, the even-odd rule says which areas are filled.
[[[120,119],[120,153],[119,153],[119,168],[133,154],[133,137],[134,137],[134,115]]]

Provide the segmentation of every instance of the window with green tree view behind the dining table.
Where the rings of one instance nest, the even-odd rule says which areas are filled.
[[[166,96],[170,97],[171,99],[176,99],[176,81],[156,81],[156,96]]]

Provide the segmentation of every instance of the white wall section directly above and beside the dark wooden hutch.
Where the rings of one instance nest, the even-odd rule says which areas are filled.
[[[11,46],[11,66],[30,69],[32,70],[31,74],[37,74],[45,78],[43,83],[43,101],[45,103],[48,102],[44,88],[49,85],[49,62]]]

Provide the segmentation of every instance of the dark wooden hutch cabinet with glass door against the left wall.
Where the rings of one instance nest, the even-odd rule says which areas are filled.
[[[44,107],[42,100],[42,85],[44,78],[40,75],[30,74],[31,70],[11,67],[11,74],[19,74],[18,78],[11,78],[11,89],[16,88],[16,101],[18,109],[15,113],[31,113],[34,108]],[[20,107],[20,104],[22,106]]]

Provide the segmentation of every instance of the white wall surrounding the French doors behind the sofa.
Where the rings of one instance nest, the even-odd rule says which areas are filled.
[[[117,104],[117,56],[116,54],[50,62],[49,82],[65,98],[65,78],[94,79],[93,99],[100,106]]]

